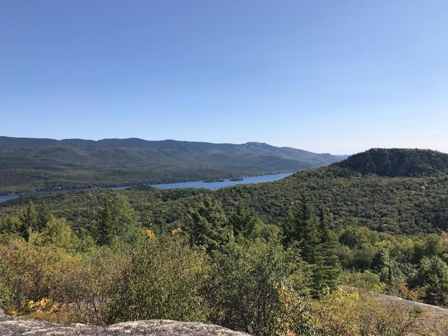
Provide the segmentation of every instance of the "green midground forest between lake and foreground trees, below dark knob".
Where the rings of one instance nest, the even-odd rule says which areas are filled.
[[[364,154],[371,157],[369,152]],[[439,157],[437,162],[447,156],[432,151],[424,153]],[[314,207],[325,209],[333,227],[353,224],[380,232],[407,234],[440,232],[448,228],[448,173],[443,167],[433,171],[432,175],[363,175],[357,169],[347,168],[359,160],[360,154],[353,155],[340,163],[298,172],[280,181],[236,185],[215,192],[137,186],[120,193],[129,198],[144,223],[156,225],[171,224],[181,219],[204,195],[222,202],[227,214],[235,204],[243,202],[265,222],[277,224],[286,217],[288,209],[297,203],[301,195],[307,195]],[[409,162],[409,159],[402,161]],[[401,164],[400,160],[397,162]],[[68,218],[75,227],[80,228],[87,225],[89,212],[101,205],[104,198],[115,193],[110,190],[86,190],[31,198],[24,196],[0,203],[0,215],[15,214],[28,204],[29,199],[34,199],[36,203],[45,200],[53,212]]]

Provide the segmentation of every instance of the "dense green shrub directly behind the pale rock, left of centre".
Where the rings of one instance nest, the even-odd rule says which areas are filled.
[[[108,322],[204,321],[207,310],[200,291],[208,271],[205,253],[191,249],[183,237],[148,237],[115,280]]]

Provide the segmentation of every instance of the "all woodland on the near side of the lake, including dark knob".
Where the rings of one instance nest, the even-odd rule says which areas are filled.
[[[58,322],[163,318],[254,335],[446,335],[422,326],[421,311],[362,290],[448,306],[447,157],[370,150],[217,191],[8,201],[0,306]]]

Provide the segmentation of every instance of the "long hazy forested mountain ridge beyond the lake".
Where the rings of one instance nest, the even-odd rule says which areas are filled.
[[[291,172],[342,158],[259,142],[0,137],[0,194]]]

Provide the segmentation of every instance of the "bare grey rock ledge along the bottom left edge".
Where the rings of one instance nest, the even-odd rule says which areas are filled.
[[[121,335],[153,335],[153,336],[180,336],[180,335],[220,335],[242,336],[244,333],[236,332],[214,324],[195,322],[178,322],[169,320],[146,320],[122,322],[107,327],[90,326],[81,323],[72,323],[67,326],[27,318],[13,318],[2,314],[0,309],[0,335],[64,335],[64,336],[121,336]]]

